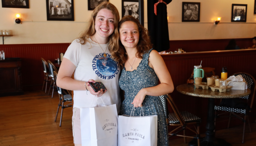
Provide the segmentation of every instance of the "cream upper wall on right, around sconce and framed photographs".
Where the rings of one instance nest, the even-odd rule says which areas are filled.
[[[182,1],[200,2],[200,22],[182,22]],[[246,23],[231,22],[232,3],[247,4]],[[172,0],[167,5],[170,40],[250,38],[256,36],[254,0]],[[222,17],[218,25],[213,20]]]

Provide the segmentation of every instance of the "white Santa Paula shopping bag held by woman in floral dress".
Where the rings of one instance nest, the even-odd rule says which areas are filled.
[[[157,116],[118,116],[118,146],[157,146]]]

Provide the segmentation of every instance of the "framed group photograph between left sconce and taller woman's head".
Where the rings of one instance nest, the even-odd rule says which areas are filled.
[[[74,0],[46,0],[47,21],[74,21]]]

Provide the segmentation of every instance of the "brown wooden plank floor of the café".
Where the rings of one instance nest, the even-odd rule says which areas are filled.
[[[72,108],[64,109],[60,127],[60,114],[54,122],[58,101],[57,92],[51,98],[43,91],[0,97],[0,146],[74,146]],[[249,133],[246,129],[245,144],[241,143],[242,126],[219,130],[216,137],[225,139],[232,146],[256,146],[256,124],[251,126],[253,132]],[[170,140],[170,146],[188,144],[179,138]]]

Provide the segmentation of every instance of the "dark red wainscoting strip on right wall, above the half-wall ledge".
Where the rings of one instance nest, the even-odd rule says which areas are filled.
[[[168,52],[178,51],[182,48],[185,52],[199,52],[199,51],[216,51],[225,50],[231,39],[217,39],[217,40],[170,40],[170,49]],[[251,38],[235,39],[237,46],[241,49],[253,46]]]

